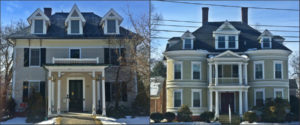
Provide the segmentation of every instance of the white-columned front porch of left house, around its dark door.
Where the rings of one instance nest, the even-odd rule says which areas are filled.
[[[105,68],[102,64],[47,64],[48,117],[68,112],[106,115]]]

